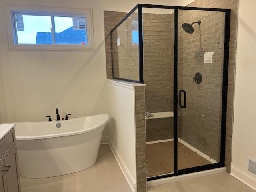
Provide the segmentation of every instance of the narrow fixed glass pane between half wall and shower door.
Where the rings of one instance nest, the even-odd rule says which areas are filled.
[[[174,172],[174,11],[143,8],[147,177]]]

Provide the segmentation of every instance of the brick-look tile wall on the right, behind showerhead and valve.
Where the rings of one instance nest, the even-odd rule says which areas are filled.
[[[226,120],[226,155],[225,155],[225,166],[227,171],[230,172],[231,166],[231,146],[232,146],[232,118],[233,118],[233,98],[234,98],[234,71],[235,71],[235,52],[236,52],[236,36],[237,36],[237,18],[238,18],[238,0],[196,0],[189,4],[191,7],[210,7],[210,8],[228,8],[231,9],[231,22],[230,22],[230,56],[229,56],[229,70],[228,70],[228,107],[227,107],[227,120]],[[179,34],[179,39],[183,38],[182,41],[179,42],[179,50],[184,49],[184,51],[189,50],[188,52],[184,52],[182,57],[180,57],[179,53],[179,62],[183,63],[184,68],[179,68],[180,74],[187,74],[183,77],[183,79],[179,79],[179,82],[182,82],[183,87],[192,90],[191,97],[193,98],[191,101],[188,101],[187,104],[191,105],[183,114],[181,114],[181,118],[183,125],[182,134],[186,134],[186,138],[188,135],[191,137],[193,134],[198,134],[198,148],[202,152],[208,154],[211,157],[217,158],[219,160],[218,154],[220,148],[220,96],[222,95],[220,84],[222,84],[222,67],[223,67],[223,48],[224,42],[220,41],[220,37],[223,39],[223,29],[224,29],[224,16],[219,12],[210,14],[209,16],[206,13],[202,12],[191,12],[191,11],[183,11],[180,12],[179,15],[179,24],[182,22],[190,22],[196,19],[201,20],[202,23],[200,25],[201,31],[201,44],[198,44],[196,40],[196,33],[198,31],[196,28],[198,26],[194,26],[195,32],[192,34],[192,38],[186,38],[186,34]],[[188,17],[189,15],[189,17]],[[217,24],[218,23],[218,24]],[[212,25],[212,26],[211,26]],[[180,25],[179,25],[180,26]],[[179,29],[179,32],[182,33],[182,29]],[[199,34],[199,33],[198,33]],[[196,40],[193,42],[193,40]],[[180,45],[182,44],[182,45]],[[215,46],[214,46],[215,45]],[[201,46],[201,47],[200,47]],[[216,48],[217,47],[217,48]],[[200,52],[199,50],[202,50]],[[213,65],[206,66],[202,63],[201,59],[203,59],[202,53],[204,51],[214,51],[213,56]],[[191,54],[196,54],[196,60],[191,58]],[[204,72],[202,72],[203,80],[202,84],[196,86],[196,88],[192,88],[191,78],[196,71],[193,71],[197,66],[191,66],[189,69],[188,66],[190,64],[200,64],[200,66],[204,65]],[[201,65],[202,64],[202,65]],[[199,66],[199,67],[200,67]],[[202,68],[201,68],[202,69]],[[203,69],[202,69],[203,70]],[[205,73],[206,72],[206,73]],[[204,73],[204,74],[203,74]],[[212,76],[211,76],[212,74]],[[206,77],[207,76],[207,77]],[[187,78],[190,78],[190,82],[188,82]],[[202,86],[202,87],[200,87]],[[202,90],[200,89],[202,88]],[[198,92],[198,95],[194,95],[194,93]],[[202,98],[201,102],[198,100]],[[188,97],[187,97],[188,98]],[[209,106],[207,106],[207,103]],[[215,112],[215,115],[213,114]],[[202,114],[205,114],[202,117]],[[184,117],[184,115],[186,115]],[[179,120],[180,121],[180,120]],[[200,127],[200,123],[202,122],[204,126]],[[196,125],[196,126],[193,126]],[[209,129],[209,126],[211,129]],[[198,132],[198,133],[197,133]],[[208,134],[207,134],[208,132]],[[182,136],[183,138],[183,136]],[[195,138],[195,136],[194,136]],[[217,139],[218,138],[218,139]],[[206,143],[204,143],[206,142]],[[190,143],[190,142],[189,142]],[[201,143],[201,144],[200,144]],[[190,143],[191,144],[191,143]],[[195,143],[193,143],[195,144]],[[193,145],[192,144],[192,145]],[[194,145],[193,145],[194,146]],[[200,146],[200,147],[199,147]]]

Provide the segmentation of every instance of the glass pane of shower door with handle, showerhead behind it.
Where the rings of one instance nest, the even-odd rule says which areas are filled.
[[[225,13],[178,11],[178,170],[220,162]]]

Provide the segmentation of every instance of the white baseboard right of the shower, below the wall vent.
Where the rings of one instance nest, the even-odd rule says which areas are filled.
[[[231,175],[252,188],[253,190],[256,190],[256,177],[253,177],[249,173],[241,170],[234,165],[231,165]]]

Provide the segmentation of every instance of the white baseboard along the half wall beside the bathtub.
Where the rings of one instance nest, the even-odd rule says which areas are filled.
[[[132,174],[130,173],[126,164],[124,163],[124,160],[122,159],[122,156],[120,155],[120,153],[116,149],[116,146],[114,145],[114,142],[110,138],[108,144],[116,158],[116,161],[118,162],[119,167],[121,168],[124,174],[124,177],[126,178],[128,184],[130,185],[130,188],[132,189],[133,192],[136,192],[136,181],[132,177]]]

